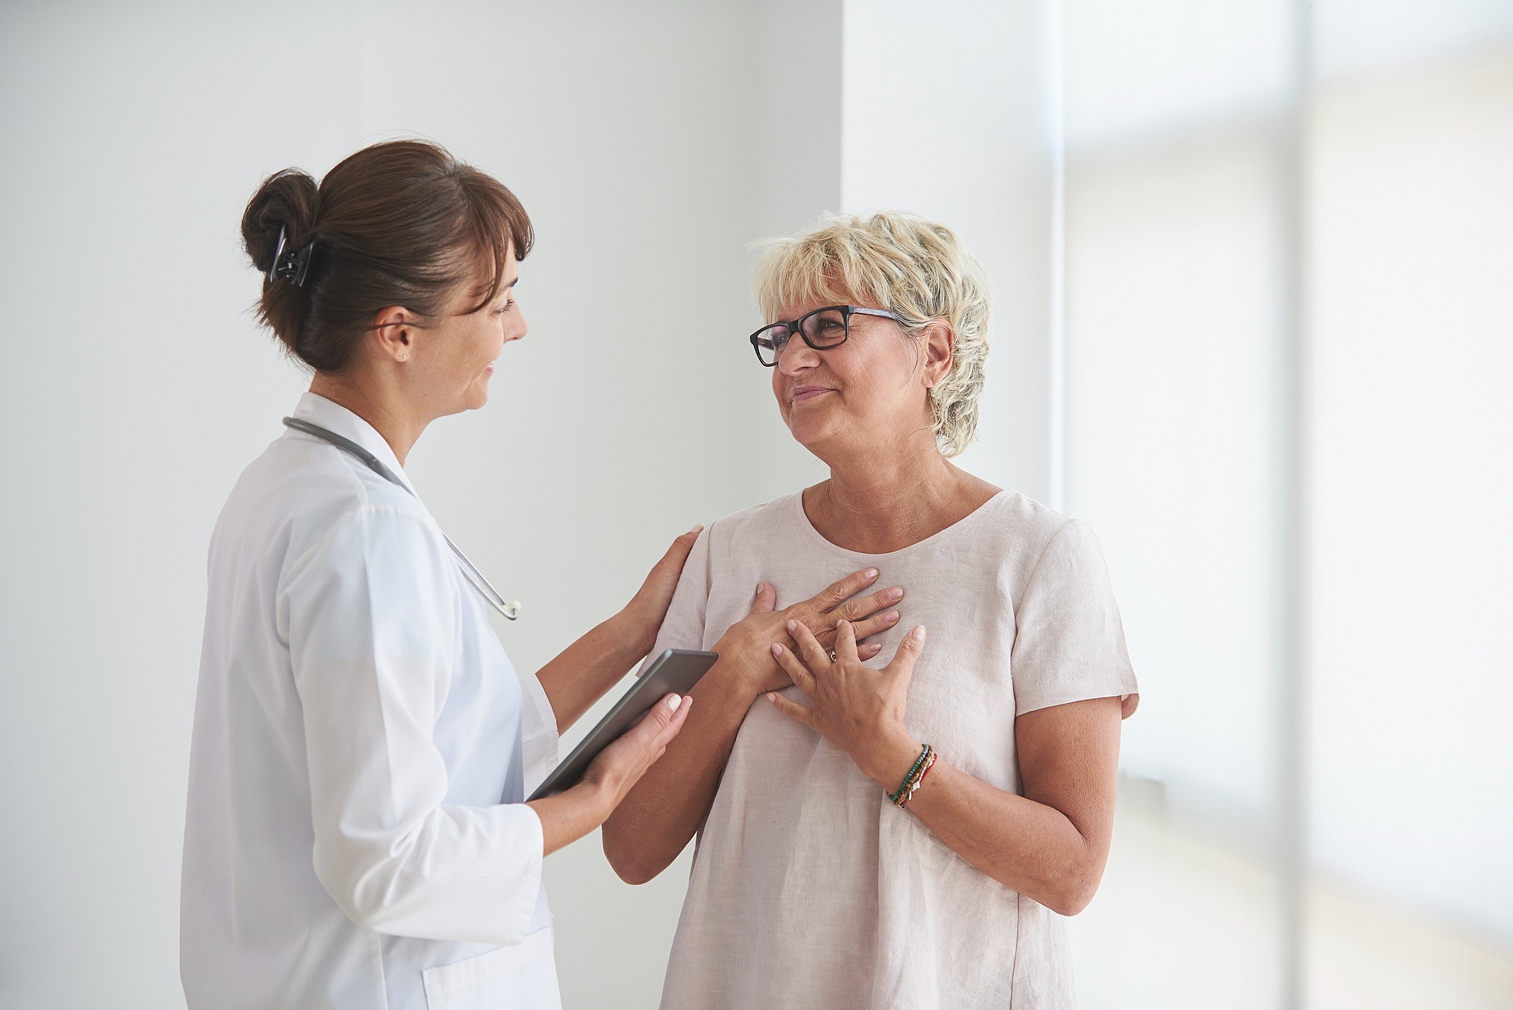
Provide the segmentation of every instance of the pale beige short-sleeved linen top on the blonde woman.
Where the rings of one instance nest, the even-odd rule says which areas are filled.
[[[1017,491],[884,555],[820,537],[797,494],[722,519],[652,655],[713,647],[761,579],[787,606],[864,567],[906,590],[868,665],[924,624],[905,721],[1000,789],[1020,791],[1015,715],[1138,691],[1091,529]],[[699,833],[663,1010],[1073,1002],[1059,916],[950,851],[829,741],[752,705]]]

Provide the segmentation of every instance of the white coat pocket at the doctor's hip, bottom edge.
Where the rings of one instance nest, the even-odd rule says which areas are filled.
[[[552,930],[531,933],[514,946],[501,946],[454,965],[421,972],[430,1010],[560,1010]]]

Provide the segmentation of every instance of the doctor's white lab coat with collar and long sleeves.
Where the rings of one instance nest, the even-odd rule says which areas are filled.
[[[295,411],[404,479],[378,432]],[[210,541],[185,829],[191,1010],[558,1007],[542,824],[557,761],[425,505],[287,431]]]

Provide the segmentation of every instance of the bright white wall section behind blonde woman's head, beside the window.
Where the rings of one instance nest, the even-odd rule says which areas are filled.
[[[993,292],[977,445],[958,463],[1055,500],[1053,5],[847,0],[841,204],[941,221]]]

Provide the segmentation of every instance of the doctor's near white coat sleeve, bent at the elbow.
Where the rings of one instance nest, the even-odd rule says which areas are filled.
[[[368,505],[290,565],[281,594],[321,885],[378,933],[517,943],[540,888],[536,812],[443,801],[434,727],[461,649],[445,541],[413,511]]]

